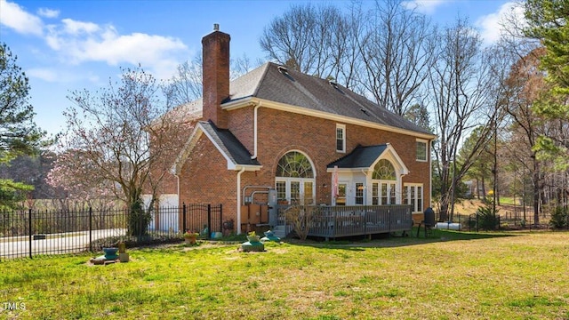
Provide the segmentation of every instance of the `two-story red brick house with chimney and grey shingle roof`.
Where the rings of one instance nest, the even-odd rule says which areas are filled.
[[[280,204],[412,204],[413,220],[422,219],[432,133],[275,63],[230,82],[229,39],[217,28],[202,39],[204,95],[187,108],[202,107],[203,117],[173,165],[171,199],[222,204],[237,233],[248,205],[266,203],[270,189]]]

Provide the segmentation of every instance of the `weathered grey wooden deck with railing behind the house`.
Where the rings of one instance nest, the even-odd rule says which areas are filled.
[[[315,205],[303,210],[309,214],[309,236],[326,239],[411,231],[411,211],[411,205],[406,204]]]

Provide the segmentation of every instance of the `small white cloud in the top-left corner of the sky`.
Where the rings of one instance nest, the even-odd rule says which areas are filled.
[[[0,0],[0,24],[24,35],[42,36],[44,24],[37,16],[23,10],[20,5]]]

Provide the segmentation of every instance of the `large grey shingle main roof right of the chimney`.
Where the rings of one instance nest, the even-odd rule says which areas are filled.
[[[229,99],[247,97],[271,100],[301,108],[309,108],[337,116],[371,121],[408,131],[432,134],[349,89],[325,79],[268,62],[232,81]]]

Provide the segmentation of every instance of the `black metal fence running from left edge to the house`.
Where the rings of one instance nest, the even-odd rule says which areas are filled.
[[[129,230],[128,210],[0,212],[0,260],[43,254],[96,252],[125,242],[129,246],[177,242],[185,231],[209,238],[222,230],[221,205],[184,204],[147,211],[146,228]],[[144,222],[142,222],[144,223]]]

